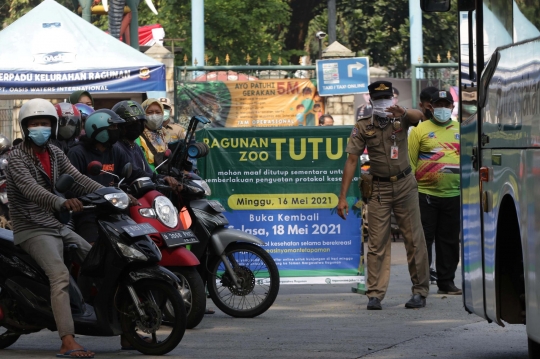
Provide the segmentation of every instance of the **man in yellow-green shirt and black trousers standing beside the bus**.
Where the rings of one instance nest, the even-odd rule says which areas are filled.
[[[454,278],[459,263],[459,123],[451,119],[454,100],[436,91],[427,110],[433,116],[414,128],[409,157],[418,182],[422,227],[428,248],[435,241],[439,294],[460,295]],[[431,264],[432,254],[429,254]]]

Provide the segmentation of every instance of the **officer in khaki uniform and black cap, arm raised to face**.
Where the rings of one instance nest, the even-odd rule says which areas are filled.
[[[418,206],[418,188],[411,174],[407,153],[407,130],[422,118],[422,113],[393,106],[390,82],[377,81],[368,89],[373,116],[358,121],[351,132],[338,214],[343,219],[348,214],[347,191],[356,171],[358,157],[367,146],[370,174],[362,178],[365,181],[362,196],[369,202],[367,309],[382,309],[381,301],[388,288],[392,210],[403,234],[413,283],[413,295],[405,307],[422,308],[426,305],[429,292],[429,265]],[[371,189],[371,194],[368,189]]]

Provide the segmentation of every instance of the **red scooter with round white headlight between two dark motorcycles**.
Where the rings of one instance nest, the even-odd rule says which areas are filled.
[[[100,172],[108,173],[102,168],[101,163],[92,161],[88,165],[87,172],[93,176],[99,175]],[[180,279],[179,292],[186,307],[186,328],[192,329],[204,318],[206,293],[202,278],[196,269],[200,262],[185,246],[198,243],[199,240],[191,230],[182,229],[178,211],[169,198],[156,189],[171,190],[169,186],[155,184],[149,177],[138,178],[124,188],[140,203],[129,208],[130,217],[139,225],[149,224],[151,228],[156,229],[155,233],[148,235],[161,251],[162,259],[159,265]]]

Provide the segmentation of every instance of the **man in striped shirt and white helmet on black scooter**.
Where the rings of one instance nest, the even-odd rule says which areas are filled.
[[[102,186],[80,174],[64,152],[50,144],[50,139],[56,138],[58,117],[49,101],[26,102],[19,112],[19,124],[24,140],[11,151],[6,171],[14,243],[30,254],[49,278],[52,310],[62,339],[60,353],[93,357],[94,353],[84,349],[73,337],[69,271],[63,260],[63,249],[68,244],[78,246],[76,254],[81,263],[91,247],[55,217],[61,208],[77,212],[83,205],[76,198],[58,196],[54,186],[64,173],[82,185],[72,188],[78,196]]]

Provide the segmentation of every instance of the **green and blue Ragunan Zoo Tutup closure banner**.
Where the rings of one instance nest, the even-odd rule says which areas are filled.
[[[282,283],[361,282],[358,174],[336,212],[350,126],[203,129],[198,167],[232,227],[261,238]]]

